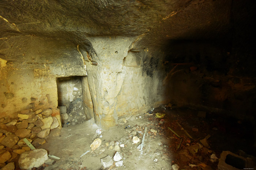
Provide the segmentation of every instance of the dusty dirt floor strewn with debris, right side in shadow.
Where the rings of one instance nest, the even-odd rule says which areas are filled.
[[[157,112],[165,114],[163,120],[155,117]],[[172,165],[177,164],[180,170],[211,170],[217,169],[218,159],[216,157],[219,158],[223,150],[229,150],[235,154],[238,154],[239,150],[244,150],[248,154],[252,154],[252,135],[248,136],[245,133],[246,129],[251,128],[249,123],[235,119],[221,119],[220,116],[211,113],[206,113],[204,118],[204,112],[200,112],[201,115],[198,113],[198,111],[187,108],[166,108],[166,110],[156,108],[153,112],[126,115],[126,123],[124,123],[124,117],[120,117],[117,126],[109,130],[102,130],[101,138],[99,135],[95,137],[95,131],[99,127],[93,120],[64,127],[59,137],[49,136],[47,142],[40,146],[40,148],[46,149],[49,155],[57,156],[60,159],[51,158],[54,162],[49,163],[50,165],[44,164],[38,169],[170,170]],[[202,115],[203,117],[200,117]],[[185,134],[178,123],[187,130],[194,140]],[[144,147],[140,151],[137,147],[142,142],[146,127]],[[168,127],[181,138],[178,138]],[[157,133],[154,133],[152,129],[157,130]],[[208,147],[200,143],[200,140],[207,135],[209,137],[207,139]],[[133,136],[139,137],[140,142],[133,144]],[[95,151],[91,151],[90,144],[94,138],[100,138],[102,143]],[[113,163],[110,168],[104,168],[101,159],[108,155],[113,158],[116,153],[114,149],[111,149],[114,148],[112,143],[114,143],[113,145],[119,143],[119,146],[124,144],[119,151],[123,156],[121,159],[123,166],[116,167]],[[89,152],[84,154],[86,151]]]

